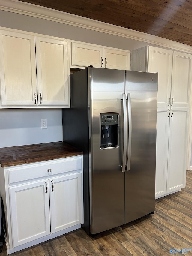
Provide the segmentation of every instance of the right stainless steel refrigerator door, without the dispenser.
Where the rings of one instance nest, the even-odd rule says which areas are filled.
[[[125,223],[155,211],[157,91],[158,74],[126,71],[129,125]]]

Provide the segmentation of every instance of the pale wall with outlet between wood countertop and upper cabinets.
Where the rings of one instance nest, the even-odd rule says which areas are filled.
[[[41,129],[47,119],[47,129]],[[1,109],[0,147],[63,141],[62,110]]]

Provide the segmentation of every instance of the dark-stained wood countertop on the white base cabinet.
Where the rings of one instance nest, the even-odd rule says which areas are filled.
[[[0,148],[1,167],[31,164],[82,155],[83,152],[62,141]]]

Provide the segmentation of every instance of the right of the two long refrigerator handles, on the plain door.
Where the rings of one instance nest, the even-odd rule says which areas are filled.
[[[127,170],[130,170],[131,165],[131,137],[132,137],[132,120],[131,120],[131,94],[128,93],[128,158],[127,158]]]

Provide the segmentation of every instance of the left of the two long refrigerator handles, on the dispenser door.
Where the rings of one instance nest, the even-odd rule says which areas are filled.
[[[122,172],[126,169],[126,157],[127,157],[127,94],[123,93],[123,119],[124,119],[124,143],[123,143],[123,164]]]

